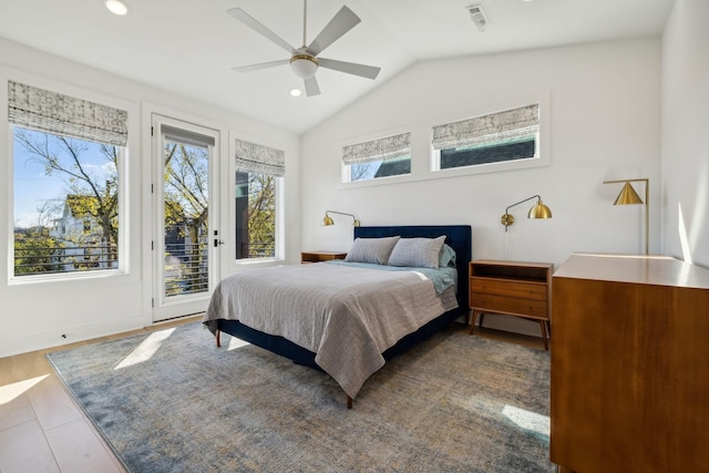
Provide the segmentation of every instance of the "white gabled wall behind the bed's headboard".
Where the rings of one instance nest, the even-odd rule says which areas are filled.
[[[558,265],[573,251],[641,253],[644,209],[614,207],[620,186],[603,181],[648,177],[650,200],[659,203],[660,66],[659,39],[412,66],[304,135],[304,249],[349,248],[346,220],[319,226],[323,212],[336,209],[356,214],[363,225],[471,224],[474,258],[508,254],[512,260]],[[540,92],[551,96],[547,167],[338,188],[342,141],[409,127],[413,164],[425,166],[428,146],[415,143],[428,141],[431,116],[465,119]],[[505,207],[535,194],[554,217],[530,220],[528,207],[515,207],[516,222],[505,235],[500,224]],[[651,253],[661,250],[659,208],[650,207]],[[531,330],[538,333],[534,326]]]

